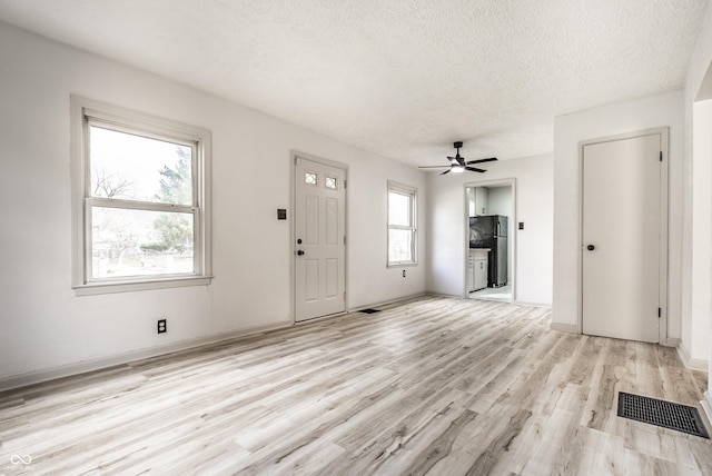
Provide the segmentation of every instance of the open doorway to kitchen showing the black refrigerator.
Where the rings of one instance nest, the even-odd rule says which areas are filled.
[[[515,300],[515,180],[465,185],[465,292]]]

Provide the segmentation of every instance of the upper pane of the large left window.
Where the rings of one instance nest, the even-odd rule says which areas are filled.
[[[192,205],[192,148],[89,128],[91,197]]]

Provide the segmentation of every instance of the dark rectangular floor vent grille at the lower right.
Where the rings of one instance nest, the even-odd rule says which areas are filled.
[[[619,416],[710,439],[694,407],[619,391]]]

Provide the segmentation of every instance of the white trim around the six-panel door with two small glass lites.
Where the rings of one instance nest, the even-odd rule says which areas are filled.
[[[297,176],[297,159],[301,158],[305,160],[310,160],[313,162],[317,162],[328,167],[335,167],[337,169],[344,170],[344,177],[346,180],[346,187],[344,189],[344,236],[346,238],[346,242],[344,245],[344,291],[346,292],[346,297],[344,299],[345,313],[348,313],[350,307],[348,305],[349,292],[348,292],[348,166],[346,163],[337,162],[335,160],[325,159],[322,157],[313,156],[310,153],[301,152],[298,150],[291,150],[289,161],[290,166],[290,177],[289,177],[289,196],[290,196],[290,206],[289,206],[289,217],[291,220],[291,226],[289,227],[289,250],[291,259],[289,260],[289,274],[291,276],[291,285],[290,285],[290,303],[291,303],[291,323],[297,323],[297,270],[295,266],[295,259],[297,256],[297,231],[296,231],[296,204],[297,204],[297,190],[295,187],[296,176]]]

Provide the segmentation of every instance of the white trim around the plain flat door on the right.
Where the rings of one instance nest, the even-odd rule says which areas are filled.
[[[596,139],[589,139],[578,142],[578,260],[577,260],[577,276],[578,276],[578,317],[576,323],[577,334],[583,334],[583,152],[585,146],[594,143],[613,142],[617,140],[633,139],[636,137],[660,135],[660,148],[662,151],[662,162],[660,169],[660,280],[659,280],[659,296],[660,296],[660,325],[659,325],[659,341],[660,344],[674,346],[676,339],[668,338],[668,236],[669,236],[669,158],[670,158],[670,128],[657,127],[652,129],[644,129],[635,132],[620,133],[615,136],[606,136]]]

